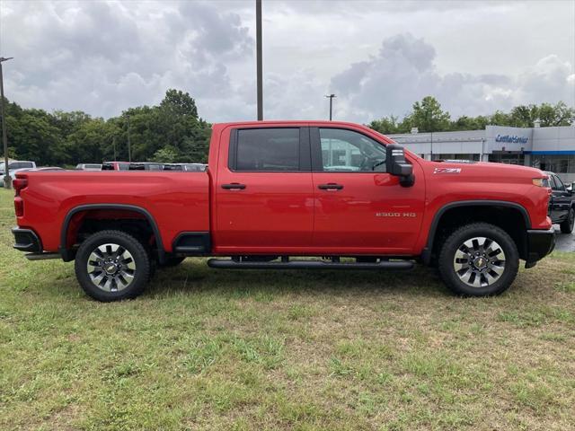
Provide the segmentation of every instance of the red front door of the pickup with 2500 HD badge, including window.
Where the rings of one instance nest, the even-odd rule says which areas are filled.
[[[385,172],[385,145],[358,130],[311,128],[314,248],[326,254],[411,254],[420,234],[425,183],[402,187]],[[419,178],[418,178],[419,177]]]

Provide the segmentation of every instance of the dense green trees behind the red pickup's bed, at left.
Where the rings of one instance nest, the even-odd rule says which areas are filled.
[[[82,111],[22,109],[7,101],[8,155],[39,166],[128,160],[206,162],[211,125],[187,92],[170,89],[157,106],[129,108],[102,119]]]

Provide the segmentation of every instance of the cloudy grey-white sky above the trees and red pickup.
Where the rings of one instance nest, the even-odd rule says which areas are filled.
[[[360,123],[438,98],[452,117],[575,106],[575,0],[262,1],[265,119]],[[255,119],[255,2],[0,0],[4,93],[110,118],[189,92]]]

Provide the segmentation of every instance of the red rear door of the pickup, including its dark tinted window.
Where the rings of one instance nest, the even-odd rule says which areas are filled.
[[[215,195],[218,253],[310,247],[314,189],[308,128],[231,130],[229,143],[220,144]]]

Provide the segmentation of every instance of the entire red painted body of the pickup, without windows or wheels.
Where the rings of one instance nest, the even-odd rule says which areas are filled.
[[[351,123],[264,121],[216,124],[206,172],[22,172],[18,225],[57,251],[66,214],[85,204],[142,207],[154,217],[165,251],[181,232],[210,232],[213,254],[389,254],[418,256],[441,207],[464,200],[500,200],[526,209],[532,229],[548,229],[548,190],[533,185],[543,172],[499,163],[437,163],[406,151],[415,183],[402,187],[388,173],[232,172],[230,130],[262,127],[349,128],[382,145],[374,130]],[[457,168],[447,173],[443,168]],[[439,172],[437,171],[439,169]],[[222,189],[239,182],[246,189]],[[318,184],[336,182],[338,191]],[[399,215],[399,216],[396,216]]]

